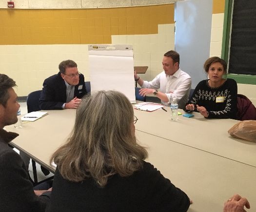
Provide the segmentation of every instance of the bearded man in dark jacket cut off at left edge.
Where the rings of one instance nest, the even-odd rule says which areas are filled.
[[[0,74],[0,211],[44,212],[51,192],[33,190],[23,160],[8,146],[19,134],[3,130],[18,121],[20,104],[14,86],[13,79]]]

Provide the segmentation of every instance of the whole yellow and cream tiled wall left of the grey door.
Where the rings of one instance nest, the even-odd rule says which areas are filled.
[[[0,73],[17,82],[18,96],[40,90],[59,62],[77,62],[90,81],[91,43],[133,44],[134,65],[148,66],[143,79],[162,71],[174,49],[174,4],[105,9],[0,9]],[[2,21],[3,20],[3,21]]]

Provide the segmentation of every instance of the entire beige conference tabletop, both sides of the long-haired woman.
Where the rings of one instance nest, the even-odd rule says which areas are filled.
[[[254,182],[256,167],[251,165],[254,163],[251,161],[252,158],[248,157],[248,153],[255,145],[230,138],[229,135],[224,134],[226,129],[222,129],[223,127],[219,129],[219,125],[214,120],[179,117],[179,121],[171,121],[169,109],[167,110],[168,112],[158,110],[151,113],[135,110],[135,115],[139,119],[135,125],[136,135],[138,141],[148,147],[147,161],[154,164],[165,177],[186,192],[194,201],[189,212],[222,211],[224,201],[234,193],[240,193],[249,201],[251,200],[251,211],[256,211],[252,202],[256,199],[256,183]],[[50,167],[49,159],[54,151],[67,140],[74,126],[76,110],[48,112],[49,115],[35,122],[25,123],[21,129],[13,126],[6,128],[7,131],[20,134],[12,142],[16,148],[26,152],[39,164],[54,172],[54,168]],[[223,120],[219,121],[223,122]],[[225,121],[231,126],[236,123],[231,119]],[[199,123],[201,123],[201,128],[205,127],[202,135],[198,135],[200,131],[196,132],[195,129]],[[229,129],[230,126],[226,128]],[[215,145],[210,145],[213,139],[205,140],[205,138],[208,134],[216,135],[217,131],[219,136],[222,135],[225,138],[222,142],[216,138],[214,139]],[[205,150],[208,145],[201,145],[202,150],[197,148],[200,142],[210,145],[209,151]],[[238,158],[242,161],[237,162],[234,158],[229,159],[228,156],[219,156],[214,153],[219,149],[225,149],[226,143],[231,142],[245,146],[240,147],[240,154],[245,158],[248,157],[245,160],[250,165],[244,164],[242,157]],[[216,148],[217,145],[222,147]],[[231,145],[230,151],[233,151],[232,148]],[[223,154],[229,155],[229,151],[226,150]]]

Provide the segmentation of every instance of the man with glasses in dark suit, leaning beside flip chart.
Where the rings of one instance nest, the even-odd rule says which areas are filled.
[[[64,60],[59,63],[59,73],[43,82],[39,98],[41,110],[77,108],[81,97],[86,95],[84,77],[78,72],[77,63]]]

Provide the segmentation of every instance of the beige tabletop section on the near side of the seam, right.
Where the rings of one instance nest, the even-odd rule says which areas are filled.
[[[192,200],[188,212],[222,212],[233,194],[246,196],[256,212],[256,168],[137,131],[151,162]]]

